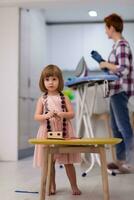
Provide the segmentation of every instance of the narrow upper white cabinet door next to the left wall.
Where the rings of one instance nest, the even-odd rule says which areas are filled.
[[[21,11],[20,18],[20,67],[19,96],[28,97],[30,87],[30,21],[27,12]]]

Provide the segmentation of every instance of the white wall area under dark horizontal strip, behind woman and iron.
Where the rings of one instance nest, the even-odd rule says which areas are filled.
[[[97,50],[107,59],[113,42],[105,34],[104,24],[51,25],[48,26],[49,62],[63,69],[75,69],[82,56],[90,69],[98,68],[90,52]],[[134,23],[125,24],[124,36],[134,53]]]

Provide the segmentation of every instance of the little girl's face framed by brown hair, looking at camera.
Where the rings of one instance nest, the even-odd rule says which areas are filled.
[[[44,84],[48,92],[55,92],[59,86],[59,79],[57,76],[49,76],[44,79]]]

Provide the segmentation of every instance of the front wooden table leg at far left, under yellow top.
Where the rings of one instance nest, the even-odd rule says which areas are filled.
[[[47,182],[47,171],[48,171],[48,154],[49,147],[44,147],[44,161],[41,172],[41,189],[40,189],[40,200],[45,200],[46,196],[46,182]]]

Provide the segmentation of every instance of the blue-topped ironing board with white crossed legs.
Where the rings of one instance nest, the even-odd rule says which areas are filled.
[[[85,127],[85,136],[89,138],[94,138],[95,134],[93,132],[92,123],[91,123],[91,116],[94,111],[94,105],[96,101],[96,95],[97,95],[97,88],[100,84],[103,85],[103,95],[105,96],[106,90],[108,90],[108,82],[118,80],[118,76],[106,72],[97,72],[96,74],[94,72],[90,72],[89,76],[84,77],[72,77],[68,81],[65,82],[65,86],[67,87],[77,87],[77,98],[76,98],[76,106],[77,106],[77,114],[76,114],[76,120],[77,120],[77,126],[76,126],[76,132],[77,136],[81,137],[81,126],[82,121],[84,122]],[[87,96],[87,91],[89,87],[93,86],[93,91],[91,96]],[[89,102],[90,101],[90,105]],[[95,162],[100,165],[100,159],[98,155],[96,154],[90,154],[91,156],[91,162],[89,168],[82,174],[82,176],[86,176],[87,173],[93,168]],[[112,175],[115,175],[115,173],[111,170],[108,170],[108,172]]]

